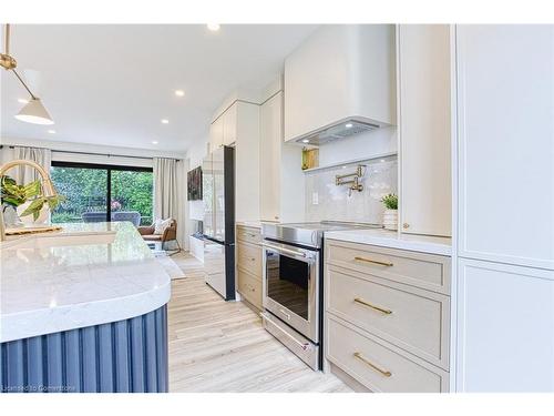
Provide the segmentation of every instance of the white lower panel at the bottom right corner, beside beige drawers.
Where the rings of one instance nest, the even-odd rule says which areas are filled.
[[[554,273],[459,260],[458,390],[554,392]]]

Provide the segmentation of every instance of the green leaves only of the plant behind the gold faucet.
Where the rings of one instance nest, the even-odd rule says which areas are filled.
[[[37,220],[44,204],[48,205],[50,211],[53,211],[64,200],[62,195],[43,196],[41,192],[42,185],[40,180],[30,182],[27,185],[18,185],[10,176],[6,175],[1,179],[2,204],[17,209],[19,205],[32,201],[21,213],[21,216],[32,214],[33,220]]]

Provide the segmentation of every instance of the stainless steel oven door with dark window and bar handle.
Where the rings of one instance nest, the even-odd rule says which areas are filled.
[[[316,250],[264,241],[264,308],[319,343],[319,256]]]

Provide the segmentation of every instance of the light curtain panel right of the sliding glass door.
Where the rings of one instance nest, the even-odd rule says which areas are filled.
[[[154,158],[154,217],[179,220],[178,172],[175,159]]]

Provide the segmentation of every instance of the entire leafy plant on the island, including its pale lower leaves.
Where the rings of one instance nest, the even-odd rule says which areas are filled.
[[[18,185],[12,177],[7,175],[1,177],[1,197],[2,215],[8,209],[17,212],[12,214],[11,220],[6,221],[9,225],[20,224],[19,217],[31,214],[33,223],[44,223],[48,220],[48,211],[53,211],[64,200],[62,195],[43,196],[40,180]]]

